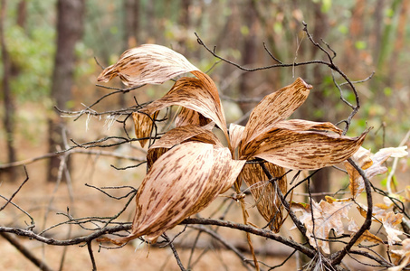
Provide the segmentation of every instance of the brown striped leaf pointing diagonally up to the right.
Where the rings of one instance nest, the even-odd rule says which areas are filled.
[[[266,133],[277,122],[290,117],[308,98],[311,88],[303,79],[298,78],[291,85],[263,98],[253,109],[245,126],[243,145]]]

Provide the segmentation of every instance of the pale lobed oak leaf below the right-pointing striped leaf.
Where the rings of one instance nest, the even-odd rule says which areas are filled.
[[[330,229],[334,229],[338,235],[344,234],[343,218],[348,217],[348,210],[355,205],[353,201],[320,201],[319,203],[312,201],[313,205],[313,217],[314,217],[314,229],[315,234],[313,236],[313,221],[311,217],[310,204],[300,205],[292,203],[291,209],[294,211],[300,211],[299,217],[307,229],[307,236],[309,238],[310,245],[318,247],[325,253],[330,253],[329,242],[326,239],[329,238]],[[315,240],[315,237],[317,238]]]

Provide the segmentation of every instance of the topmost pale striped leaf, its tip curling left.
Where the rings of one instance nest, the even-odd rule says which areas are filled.
[[[167,47],[144,44],[124,51],[119,61],[100,73],[98,81],[117,76],[127,86],[162,84],[177,75],[198,70],[186,58]]]

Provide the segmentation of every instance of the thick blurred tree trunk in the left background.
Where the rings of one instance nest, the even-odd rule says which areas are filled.
[[[52,74],[52,99],[60,109],[69,109],[72,99],[72,80],[75,64],[75,44],[83,32],[85,0],[58,0],[57,2],[57,51]],[[63,148],[64,121],[55,115],[49,119],[49,151]],[[60,165],[59,157],[52,157],[47,180],[55,181]]]

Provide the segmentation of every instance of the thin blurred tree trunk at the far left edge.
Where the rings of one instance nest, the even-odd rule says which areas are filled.
[[[2,46],[2,62],[3,62],[3,99],[5,103],[5,117],[3,119],[5,126],[5,140],[7,149],[7,162],[11,163],[15,161],[15,148],[14,148],[14,99],[12,97],[10,89],[10,79],[12,76],[12,63],[10,61],[10,55],[7,51],[7,44],[5,43],[5,14],[6,14],[6,1],[1,0],[0,10],[0,43]],[[11,181],[15,181],[15,168],[12,167],[7,170]]]

